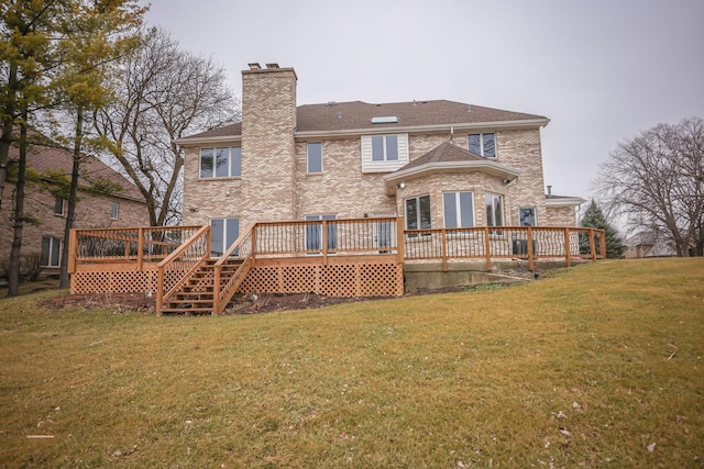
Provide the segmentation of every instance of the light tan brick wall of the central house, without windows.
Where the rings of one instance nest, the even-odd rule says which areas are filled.
[[[293,134],[293,133],[292,133]],[[431,194],[432,226],[443,226],[443,191],[473,191],[475,203],[475,223],[482,226],[485,221],[484,194],[486,191],[504,194],[505,220],[507,224],[518,225],[518,209],[535,206],[539,226],[562,226],[565,217],[548,215],[543,196],[542,159],[540,155],[540,131],[501,131],[497,132],[496,161],[521,169],[524,175],[508,186],[502,178],[484,172],[437,174],[432,177],[406,181],[406,188],[397,196],[387,196],[384,174],[362,174],[361,139],[346,137],[334,139],[298,141],[295,143],[294,194],[284,192],[283,200],[266,196],[264,188],[267,178],[288,180],[287,175],[271,176],[272,168],[263,168],[250,161],[250,153],[242,152],[242,180],[198,179],[199,148],[186,152],[184,183],[184,224],[205,224],[210,217],[240,217],[241,226],[252,221],[301,220],[311,214],[334,214],[338,217],[361,217],[364,214],[404,214],[403,201],[406,198]],[[409,136],[410,159],[414,160],[443,142],[450,141],[450,134]],[[322,172],[307,172],[307,144],[322,142]],[[453,136],[453,143],[466,147],[466,133]],[[232,141],[237,144],[237,141]],[[227,145],[223,143],[223,145]],[[270,171],[270,174],[265,172]],[[283,168],[278,168],[283,170]],[[251,176],[254,171],[254,176]],[[284,171],[282,171],[284,172]],[[253,185],[246,189],[246,181]],[[254,181],[262,181],[254,185]],[[283,185],[282,185],[283,186]],[[253,190],[260,188],[258,190]],[[283,189],[283,188],[282,188]],[[251,196],[248,197],[248,193]],[[288,212],[286,202],[293,201],[293,211]],[[266,205],[264,210],[261,205]],[[271,206],[270,206],[271,205]],[[284,205],[280,209],[276,206]],[[191,212],[190,206],[198,206]],[[248,210],[249,209],[249,210]],[[289,216],[286,216],[290,213]],[[569,220],[569,219],[568,219]],[[568,223],[574,225],[574,219]]]

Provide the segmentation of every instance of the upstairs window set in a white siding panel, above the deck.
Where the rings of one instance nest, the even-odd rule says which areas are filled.
[[[408,134],[362,135],[362,172],[392,172],[408,160]]]

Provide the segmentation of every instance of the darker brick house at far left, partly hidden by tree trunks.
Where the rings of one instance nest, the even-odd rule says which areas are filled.
[[[10,150],[10,159],[16,158],[15,147]],[[46,146],[30,146],[28,170],[38,175],[64,175],[70,180],[73,157],[68,150]],[[148,212],[142,194],[134,185],[119,172],[95,157],[81,164],[78,202],[74,227],[102,228],[148,225]],[[68,201],[53,193],[51,178],[44,183],[29,182],[25,186],[22,230],[22,254],[41,253],[42,264],[48,268],[58,268],[61,263],[64,228],[68,211]],[[95,183],[108,181],[108,186],[121,188],[111,194],[98,194],[90,191]],[[0,210],[0,261],[9,261],[13,238],[14,183],[6,182]]]

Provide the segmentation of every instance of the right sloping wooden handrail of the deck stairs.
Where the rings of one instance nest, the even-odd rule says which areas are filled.
[[[215,315],[219,315],[226,309],[230,299],[234,295],[237,291],[237,287],[239,287],[244,280],[244,276],[250,270],[252,265],[254,264],[254,253],[255,253],[255,244],[256,238],[253,235],[255,233],[256,223],[251,223],[248,227],[242,232],[242,234],[232,243],[232,245],[222,254],[222,256],[218,259],[218,261],[213,265],[215,267],[215,278],[212,281],[213,286],[213,298],[212,298],[212,313]],[[249,243],[248,243],[249,242]],[[248,252],[249,247],[249,252]],[[234,256],[242,260],[242,264],[238,267],[238,269],[232,273],[230,279],[224,286],[220,286],[220,278],[222,272],[222,266],[224,263],[232,257],[232,255],[238,250],[238,254]]]

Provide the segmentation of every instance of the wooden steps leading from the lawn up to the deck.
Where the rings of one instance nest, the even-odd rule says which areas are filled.
[[[215,264],[218,259],[206,259],[191,277],[174,294],[164,300],[164,314],[217,314],[213,311]],[[242,264],[228,259],[222,265],[220,286],[224,286]],[[220,289],[218,289],[219,291]]]

